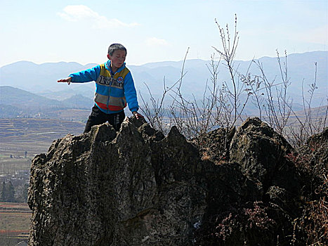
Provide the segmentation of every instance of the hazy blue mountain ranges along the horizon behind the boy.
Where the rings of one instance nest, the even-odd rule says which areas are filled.
[[[280,55],[282,56],[282,55]],[[308,84],[315,81],[315,63],[317,63],[317,77],[315,98],[313,106],[327,104],[328,75],[327,75],[328,51],[314,51],[308,53],[295,53],[287,56],[287,77],[291,82],[289,94],[293,98],[293,105],[302,103],[302,83],[307,93]],[[258,59],[262,64],[265,76],[271,82],[281,82],[280,67],[277,58],[263,57]],[[280,58],[282,66],[286,62]],[[104,60],[105,62],[105,60]],[[182,91],[185,96],[192,94],[201,98],[206,86],[206,81],[211,81],[208,66],[210,60],[186,60],[183,77]],[[235,61],[235,68],[245,75],[251,61]],[[95,66],[90,63],[43,63],[37,65],[28,61],[20,61],[1,67],[1,117],[4,116],[4,108],[81,108],[90,109],[93,105],[95,83],[71,84],[57,83],[57,80],[67,77],[71,72],[85,70]],[[159,63],[147,63],[144,65],[129,65],[138,93],[145,98],[149,95],[147,86],[153,96],[160,96],[163,91],[163,81],[166,86],[171,86],[181,77],[183,61],[165,61]],[[228,70],[223,61],[218,67],[218,82],[230,83]],[[252,75],[259,75],[260,71],[255,63],[250,70]],[[11,86],[11,87],[9,87]],[[23,90],[23,91],[21,91]],[[140,100],[139,100],[140,101]],[[35,110],[34,110],[35,111]],[[15,113],[13,113],[15,115]]]

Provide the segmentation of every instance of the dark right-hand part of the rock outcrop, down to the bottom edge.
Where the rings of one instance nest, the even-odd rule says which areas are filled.
[[[205,174],[211,185],[198,245],[289,245],[285,235],[293,233],[301,188],[287,158],[291,145],[256,117],[233,131],[232,138],[227,134],[231,130],[216,131],[215,138],[211,132],[203,139],[207,148],[200,148],[202,159],[204,153],[223,153],[225,136],[230,146],[221,154],[224,160],[211,155],[216,165],[206,165],[212,169]],[[218,183],[225,189],[218,189]]]

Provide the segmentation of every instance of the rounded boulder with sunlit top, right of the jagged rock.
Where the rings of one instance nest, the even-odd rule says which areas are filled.
[[[277,205],[299,197],[299,177],[294,164],[287,160],[291,145],[258,118],[249,118],[233,136],[230,143],[230,162],[240,164],[244,176],[258,186],[261,200],[269,195]]]

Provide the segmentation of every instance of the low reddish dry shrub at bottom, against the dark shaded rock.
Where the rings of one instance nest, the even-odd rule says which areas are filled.
[[[268,216],[263,202],[230,207],[209,218],[208,227],[196,231],[197,245],[254,245],[256,235],[263,235],[258,245],[265,245],[273,237],[276,221]]]

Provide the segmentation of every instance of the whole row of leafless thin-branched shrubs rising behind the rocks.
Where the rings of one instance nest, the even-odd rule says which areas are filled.
[[[206,81],[202,98],[197,100],[193,94],[191,98],[186,98],[182,92],[188,48],[181,68],[181,77],[171,86],[166,86],[164,78],[162,98],[155,99],[147,85],[150,101],[145,101],[143,96],[140,95],[143,100],[141,110],[152,127],[166,134],[169,128],[175,125],[187,138],[199,138],[211,129],[219,127],[226,129],[228,136],[230,129],[238,124],[237,121],[242,121],[243,117],[247,116],[244,109],[249,100],[258,110],[256,116],[268,122],[270,127],[273,127],[279,134],[284,136],[289,134],[294,139],[299,138],[297,141],[300,143],[303,143],[308,136],[320,131],[322,125],[326,125],[328,108],[325,117],[320,118],[318,121],[313,121],[313,112],[311,110],[312,98],[317,89],[316,64],[315,79],[308,90],[309,100],[306,100],[303,92],[303,108],[306,115],[303,122],[294,112],[292,100],[288,96],[291,80],[288,77],[287,51],[284,52],[284,60],[280,58],[277,51],[277,64],[280,75],[275,76],[273,79],[269,79],[265,75],[263,64],[258,60],[251,60],[247,71],[242,73],[239,71],[239,67],[235,65],[234,60],[239,41],[237,16],[235,16],[233,35],[230,34],[228,25],[223,29],[216,20],[215,22],[221,37],[221,48],[213,47],[218,53],[219,59],[216,60],[214,54],[211,56],[211,63],[206,65],[211,77]],[[258,67],[258,75],[251,75],[249,72],[251,65],[254,63]],[[229,81],[219,82],[218,67],[221,64],[228,70]],[[168,104],[167,101],[171,103]],[[291,113],[294,114],[301,126],[299,129],[300,134],[296,134],[296,130],[291,127],[287,129],[287,126],[291,124]]]

